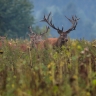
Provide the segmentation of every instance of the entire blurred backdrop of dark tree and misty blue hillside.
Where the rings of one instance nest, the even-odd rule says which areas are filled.
[[[68,35],[72,39],[96,38],[96,0],[0,0],[0,36],[26,37],[28,27],[36,33],[43,32],[47,23],[40,22],[51,12],[53,24],[67,30],[71,23],[65,18],[76,15],[76,30]],[[50,27],[50,36],[58,37]]]

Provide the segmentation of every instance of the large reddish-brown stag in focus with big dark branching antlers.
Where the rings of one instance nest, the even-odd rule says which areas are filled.
[[[50,25],[53,29],[57,30],[57,32],[60,34],[60,36],[59,36],[59,38],[48,38],[48,39],[45,41],[45,43],[48,42],[48,44],[50,44],[50,45],[52,44],[52,46],[61,47],[62,45],[64,45],[64,44],[68,41],[67,34],[70,33],[71,31],[75,30],[75,28],[76,28],[76,26],[77,26],[77,21],[79,20],[79,18],[77,18],[76,16],[72,16],[72,19],[69,19],[69,18],[67,18],[67,17],[65,16],[65,17],[72,23],[72,26],[71,26],[71,28],[69,28],[68,30],[63,31],[63,29],[64,29],[63,27],[62,27],[62,29],[59,29],[59,28],[56,28],[56,27],[54,26],[54,24],[52,23],[52,18],[51,18],[51,20],[49,21],[50,15],[51,15],[51,12],[48,14],[47,17],[45,17],[45,15],[44,15],[44,18],[43,18],[43,20],[41,20],[41,21],[46,22],[46,23],[47,23],[48,25]],[[47,44],[47,45],[48,45],[48,44]]]

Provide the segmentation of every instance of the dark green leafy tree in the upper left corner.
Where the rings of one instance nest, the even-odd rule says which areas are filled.
[[[23,37],[34,24],[30,0],[0,0],[0,36]]]

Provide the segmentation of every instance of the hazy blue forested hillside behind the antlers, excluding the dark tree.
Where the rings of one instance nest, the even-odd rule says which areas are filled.
[[[52,12],[52,20],[55,26],[67,30],[71,23],[65,16],[71,18],[76,15],[80,20],[75,31],[69,36],[73,39],[84,38],[93,40],[96,38],[96,0],[33,0],[35,25],[44,26],[46,23],[38,22],[49,12]],[[51,28],[51,35],[58,33]]]

